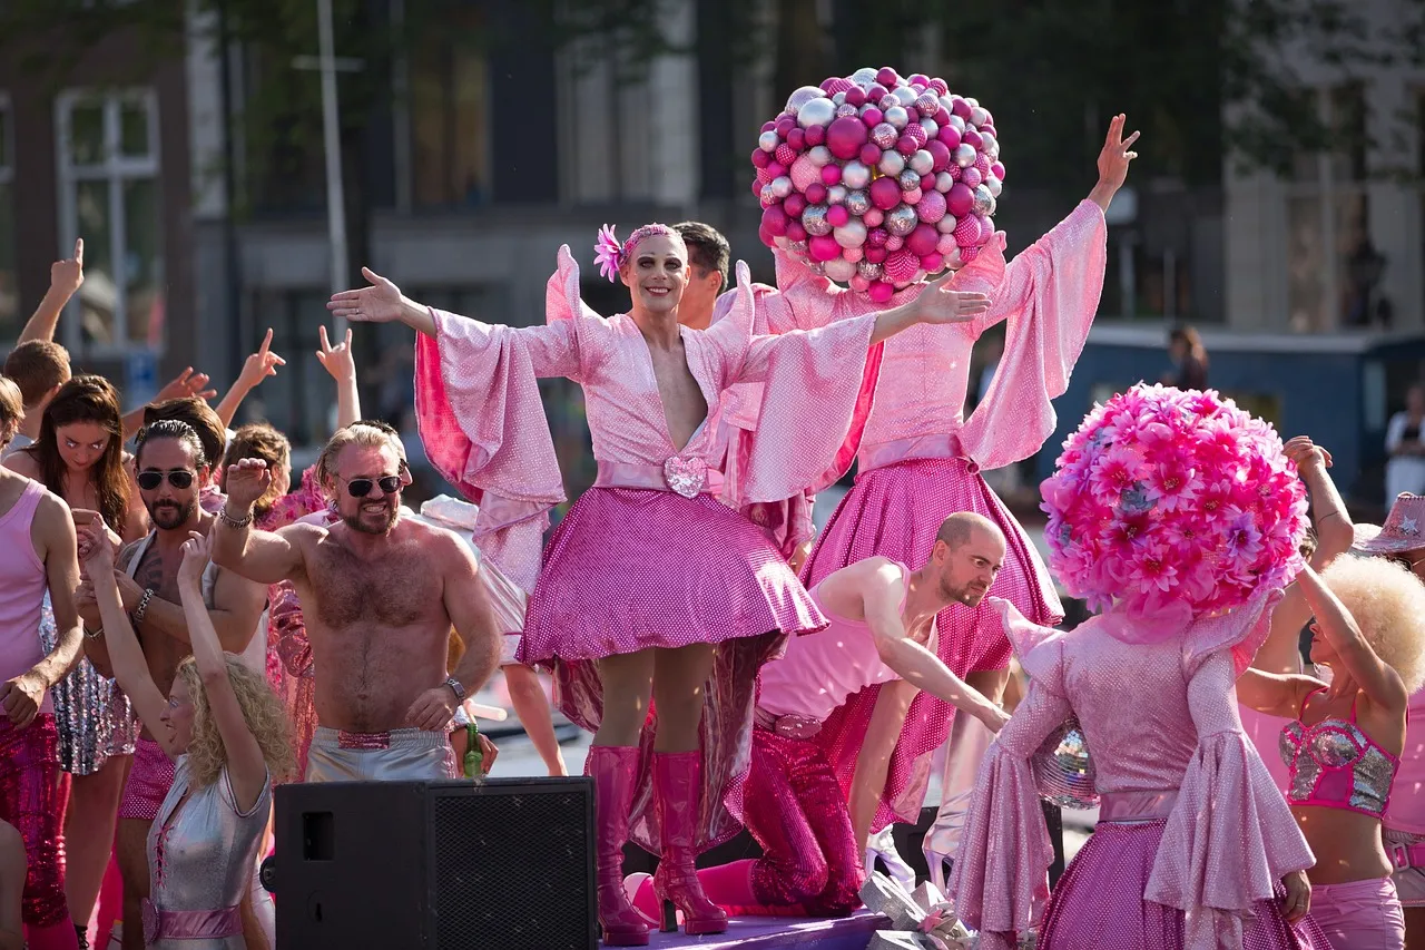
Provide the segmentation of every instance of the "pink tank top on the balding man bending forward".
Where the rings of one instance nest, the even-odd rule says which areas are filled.
[[[905,611],[911,572],[903,563],[896,566],[905,585],[899,609]],[[821,599],[821,583],[811,589],[811,599],[831,626],[819,633],[794,636],[781,659],[762,666],[757,705],[774,716],[809,716],[821,722],[854,693],[896,679],[896,675],[881,662],[865,620],[848,620],[828,611]]]

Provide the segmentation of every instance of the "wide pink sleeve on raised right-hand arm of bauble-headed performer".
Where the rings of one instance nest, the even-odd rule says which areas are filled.
[[[1050,399],[1064,394],[1099,311],[1107,262],[1103,211],[1083,201],[1033,247],[1005,265],[998,247],[955,275],[959,291],[990,295],[976,335],[1009,321],[1005,355],[985,399],[960,431],[960,444],[982,469],[1003,468],[1039,451],[1057,417]]]

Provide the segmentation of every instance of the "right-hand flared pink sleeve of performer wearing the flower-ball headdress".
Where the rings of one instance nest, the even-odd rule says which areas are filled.
[[[1197,752],[1168,814],[1144,897],[1186,913],[1188,950],[1241,946],[1253,904],[1282,874],[1315,863],[1287,800],[1237,715],[1228,649],[1201,660],[1187,688]]]

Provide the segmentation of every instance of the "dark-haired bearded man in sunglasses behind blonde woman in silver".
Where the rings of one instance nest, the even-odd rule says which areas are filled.
[[[202,442],[192,427],[164,419],[144,428],[134,464],[138,494],[154,523],[144,539],[120,552],[114,579],[124,609],[134,620],[148,660],[148,670],[160,690],[172,688],[174,673],[182,658],[192,653],[188,623],[178,598],[178,566],[182,542],[190,531],[207,535],[214,516],[200,508],[198,496],[211,474]],[[204,593],[212,625],[222,649],[241,653],[256,632],[266,588],[242,579],[231,571],[209,568],[204,575]],[[84,649],[104,676],[113,676],[104,630],[90,581],[80,585],[80,613],[86,622]],[[162,746],[147,730],[134,747],[134,766],[118,806],[118,869],[124,879],[124,920],[141,920],[141,900],[148,896],[148,829],[158,814],[174,767]],[[144,946],[141,927],[124,930],[124,950]]]

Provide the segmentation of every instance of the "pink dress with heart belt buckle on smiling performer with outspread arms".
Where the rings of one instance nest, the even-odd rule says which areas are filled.
[[[791,498],[832,466],[851,435],[875,324],[868,314],[815,332],[754,337],[755,298],[744,264],[737,278],[727,318],[707,331],[681,331],[708,405],[708,418],[683,446],[668,435],[638,327],[627,315],[604,318],[584,307],[569,248],[560,248],[549,282],[546,325],[510,328],[432,311],[437,332],[422,335],[416,349],[428,456],[480,504],[482,519],[486,492],[503,499],[503,516],[476,541],[517,583],[533,582],[519,660],[553,668],[566,716],[598,727],[596,660],[603,656],[721,645],[701,725],[704,847],[740,827],[724,796],[735,793],[747,770],[757,669],[785,635],[826,623],[768,536],[718,501],[724,392],[738,382],[764,384],[762,425],[777,434],[748,452],[738,506]],[[536,388],[537,377],[554,375],[584,389],[598,479],[539,561],[539,532],[526,526],[542,528],[563,499]],[[644,729],[644,769],[656,715]],[[637,787],[630,832],[657,853],[653,783]]]

